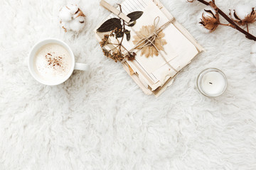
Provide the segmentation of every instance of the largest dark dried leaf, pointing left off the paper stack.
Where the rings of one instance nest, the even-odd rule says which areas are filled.
[[[105,21],[100,28],[97,28],[97,32],[104,33],[114,30],[115,28],[122,28],[121,20],[119,18],[111,18]]]

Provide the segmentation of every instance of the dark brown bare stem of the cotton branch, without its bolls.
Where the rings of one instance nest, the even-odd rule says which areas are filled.
[[[213,8],[215,8],[215,10],[220,14],[220,16],[223,16],[223,18],[225,18],[226,21],[228,21],[231,25],[231,27],[237,29],[238,31],[240,31],[241,33],[245,34],[245,37],[250,39],[250,40],[254,40],[256,41],[256,37],[252,34],[249,33],[249,29],[244,30],[242,28],[240,28],[240,26],[238,26],[232,19],[230,19],[223,11],[220,10],[220,8],[218,8],[216,5],[215,5],[215,0],[213,1],[205,1],[205,0],[197,0],[199,2],[201,2],[202,4],[205,4],[206,6],[212,6]]]

